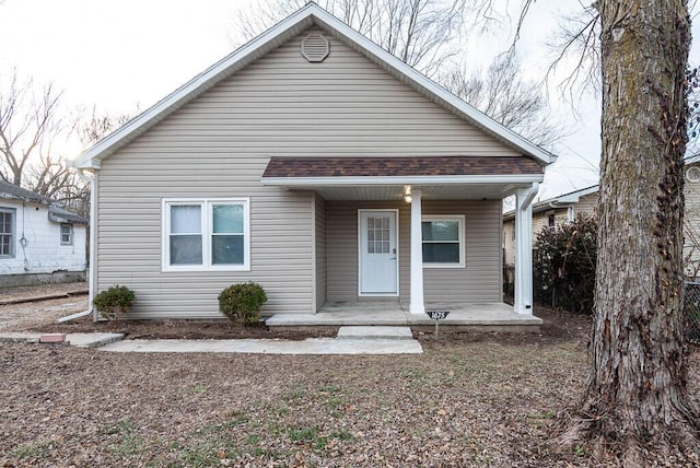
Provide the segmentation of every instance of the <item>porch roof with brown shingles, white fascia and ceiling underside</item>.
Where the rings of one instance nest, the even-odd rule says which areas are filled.
[[[402,200],[407,186],[427,199],[502,199],[542,176],[525,156],[272,157],[261,182],[327,200]]]

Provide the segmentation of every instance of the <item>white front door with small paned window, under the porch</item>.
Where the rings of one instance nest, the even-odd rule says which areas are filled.
[[[360,295],[398,295],[396,210],[361,210]]]

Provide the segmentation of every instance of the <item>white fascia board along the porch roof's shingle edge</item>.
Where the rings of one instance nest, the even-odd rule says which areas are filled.
[[[338,187],[377,185],[532,184],[542,182],[538,174],[488,176],[407,176],[407,177],[262,177],[267,186]]]

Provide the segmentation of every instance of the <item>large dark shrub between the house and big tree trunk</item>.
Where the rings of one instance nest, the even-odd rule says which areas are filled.
[[[594,218],[542,227],[533,253],[535,302],[591,314],[595,294],[598,224]]]

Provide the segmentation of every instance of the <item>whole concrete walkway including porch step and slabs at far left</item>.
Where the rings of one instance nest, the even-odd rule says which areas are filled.
[[[39,342],[42,334],[0,334],[0,341]],[[289,340],[124,340],[121,334],[68,334],[66,342],[112,352],[254,354],[420,354],[408,327],[341,327],[337,338]]]

